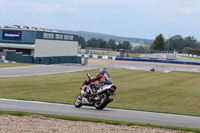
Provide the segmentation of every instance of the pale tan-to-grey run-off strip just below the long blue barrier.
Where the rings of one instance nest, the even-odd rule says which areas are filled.
[[[124,68],[129,70],[150,71],[154,68],[156,72],[172,72],[172,71],[186,71],[186,72],[200,72],[198,65],[172,64],[172,63],[156,63],[156,62],[139,62],[139,61],[116,61],[116,60],[100,60],[90,59],[89,67],[110,67],[110,68]]]

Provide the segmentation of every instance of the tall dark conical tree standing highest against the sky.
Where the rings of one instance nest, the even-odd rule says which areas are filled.
[[[165,48],[165,39],[162,34],[159,34],[153,43],[151,44],[151,48],[154,50],[162,51]]]

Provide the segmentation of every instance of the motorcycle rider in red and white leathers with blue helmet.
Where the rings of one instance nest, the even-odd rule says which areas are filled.
[[[111,77],[107,73],[106,68],[101,68],[99,70],[99,74],[95,78],[88,80],[87,84],[90,84],[91,82],[95,82],[97,80],[98,80],[98,83],[96,83],[95,85],[90,85],[90,87],[93,89],[93,92],[95,92],[97,89],[99,89],[101,86],[105,84],[112,84]],[[86,98],[90,97],[89,89],[86,89],[86,93],[84,96]]]

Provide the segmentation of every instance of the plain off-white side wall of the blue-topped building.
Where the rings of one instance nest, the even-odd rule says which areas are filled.
[[[76,56],[77,41],[36,39],[34,57]]]

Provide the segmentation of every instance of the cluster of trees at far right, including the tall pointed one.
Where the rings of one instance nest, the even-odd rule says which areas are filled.
[[[154,42],[150,45],[152,50],[173,52],[174,50],[186,54],[200,55],[200,42],[194,36],[182,37],[175,35],[166,39],[159,34]]]

